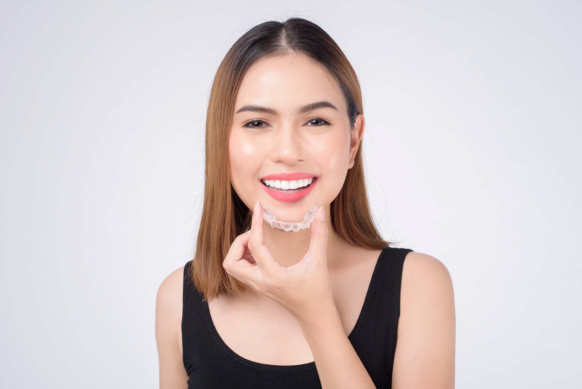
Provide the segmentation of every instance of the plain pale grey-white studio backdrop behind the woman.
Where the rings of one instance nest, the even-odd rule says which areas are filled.
[[[580,384],[577,1],[12,1],[0,13],[1,385],[157,388],[214,73],[305,17],[364,96],[384,238],[448,268],[458,388]]]

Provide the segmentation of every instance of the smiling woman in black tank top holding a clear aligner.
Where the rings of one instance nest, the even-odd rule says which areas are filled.
[[[449,272],[378,233],[362,112],[352,66],[308,20],[259,24],[230,48],[194,259],[157,296],[162,389],[454,387]]]

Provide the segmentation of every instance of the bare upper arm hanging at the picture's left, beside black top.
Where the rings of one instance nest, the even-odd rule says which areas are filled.
[[[184,267],[173,271],[159,285],[155,299],[155,340],[159,355],[160,389],[182,389],[188,376],[180,354],[182,341],[182,288]]]

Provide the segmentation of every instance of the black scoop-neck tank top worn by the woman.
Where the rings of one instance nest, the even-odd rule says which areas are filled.
[[[378,257],[368,286],[364,305],[348,339],[378,389],[391,388],[392,365],[396,349],[396,330],[400,316],[400,280],[406,254],[411,249],[385,247]],[[218,335],[208,302],[184,266],[182,347],[188,374],[188,389],[193,388],[320,388],[315,362],[302,365],[266,365],[245,359],[233,352]]]

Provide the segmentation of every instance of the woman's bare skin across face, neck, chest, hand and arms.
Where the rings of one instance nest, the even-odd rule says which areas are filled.
[[[338,110],[321,108],[301,116],[292,115],[299,105],[321,100],[332,102]],[[321,225],[314,221],[312,228],[285,232],[262,223],[260,214],[254,215],[251,234],[236,239],[223,263],[231,275],[254,285],[253,291],[243,299],[223,297],[210,302],[215,327],[226,344],[244,358],[274,365],[315,360],[323,388],[372,388],[347,334],[359,316],[379,250],[365,250],[342,241],[334,234],[328,216],[329,204],[339,193],[347,169],[353,166],[363,136],[364,118],[358,115],[356,128],[350,129],[345,102],[333,80],[321,68],[297,55],[270,58],[250,69],[237,95],[235,112],[244,104],[272,107],[280,115],[244,112],[233,116],[229,163],[232,185],[239,197],[251,210],[255,201],[264,201],[279,220],[301,220],[306,208],[313,205],[323,206],[327,218]],[[313,123],[309,122],[314,118],[331,125],[311,128]],[[262,121],[254,123],[261,128],[243,127],[256,120]],[[306,199],[297,203],[278,203],[264,193],[258,181],[267,174],[295,171],[312,172],[321,180]],[[326,236],[316,235],[322,231]],[[317,249],[311,249],[312,241]],[[305,264],[310,252],[312,255],[307,257],[311,258],[312,267],[307,273],[310,277],[315,275],[310,283],[320,284],[319,289],[311,292],[318,296],[310,301],[311,305],[306,305],[304,295],[291,293],[292,284],[272,282],[283,278],[260,283],[265,281],[266,274]],[[257,260],[249,261],[253,256]],[[257,277],[259,273],[255,273],[253,278],[242,272],[241,264],[254,270],[261,267],[264,274],[261,272],[262,276]],[[322,271],[322,264],[327,271]],[[246,271],[253,270],[251,267]],[[317,271],[313,271],[315,268]],[[161,388],[187,387],[182,362],[182,275],[180,267],[158,289],[156,338]],[[326,278],[328,284],[323,282]],[[304,282],[299,278],[292,280]],[[267,288],[273,285],[278,287]],[[320,316],[313,313],[314,307]],[[253,333],[249,333],[249,328],[253,328]],[[281,349],[287,352],[281,354]],[[455,386],[452,280],[441,261],[428,254],[411,252],[404,261],[392,373],[394,388]]]

